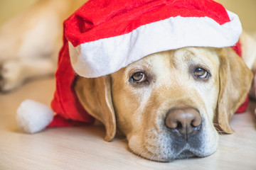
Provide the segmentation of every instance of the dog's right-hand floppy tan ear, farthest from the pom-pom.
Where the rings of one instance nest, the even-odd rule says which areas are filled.
[[[233,133],[230,118],[245,101],[249,92],[252,72],[231,47],[219,51],[220,94],[218,98],[218,124],[226,133]]]

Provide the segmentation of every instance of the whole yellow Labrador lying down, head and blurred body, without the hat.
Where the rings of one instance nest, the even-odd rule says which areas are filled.
[[[55,8],[58,3],[63,7]],[[39,11],[38,16],[31,16],[20,30],[10,28],[17,28],[18,20],[33,13],[32,9],[1,29],[1,35],[13,34],[21,41],[1,38],[0,51],[5,54],[0,60],[2,91],[15,89],[26,79],[54,73],[61,21],[81,4],[40,1],[32,8]],[[50,12],[49,20],[46,13]],[[33,21],[50,26],[38,37],[40,44],[34,41],[41,31],[39,23]],[[33,23],[31,27],[29,23]],[[8,41],[13,41],[11,46]],[[78,77],[75,92],[85,110],[105,125],[107,141],[118,130],[127,137],[132,152],[146,159],[169,162],[206,157],[218,147],[218,130],[233,132],[230,118],[251,86],[256,43],[246,33],[240,42],[242,58],[231,47],[157,52],[105,77]]]

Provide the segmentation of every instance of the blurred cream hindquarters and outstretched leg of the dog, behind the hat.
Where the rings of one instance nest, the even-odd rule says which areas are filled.
[[[63,21],[86,1],[37,1],[0,28],[0,90],[53,76],[62,45]]]

